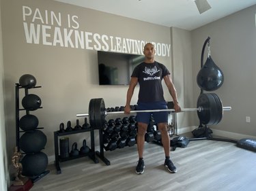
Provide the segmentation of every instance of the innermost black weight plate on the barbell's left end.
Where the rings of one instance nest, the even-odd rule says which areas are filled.
[[[95,100],[94,103],[94,118],[95,118],[95,124],[96,128],[103,128],[105,123],[105,103],[102,98],[98,98]]]

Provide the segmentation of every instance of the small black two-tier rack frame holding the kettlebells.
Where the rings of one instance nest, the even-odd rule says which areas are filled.
[[[91,134],[91,148],[89,150],[88,154],[79,154],[79,156],[70,156],[67,158],[61,158],[59,156],[59,137],[65,136],[65,135],[73,135],[76,133],[86,133],[90,132]],[[61,168],[59,166],[59,162],[65,162],[68,160],[74,160],[76,158],[81,158],[85,156],[89,156],[91,160],[93,160],[95,163],[98,163],[98,159],[95,156],[95,141],[94,141],[94,129],[93,128],[87,128],[87,129],[82,129],[82,130],[74,130],[74,131],[69,131],[69,132],[59,132],[55,131],[54,132],[54,147],[55,147],[55,167],[57,170],[57,174],[61,174]]]

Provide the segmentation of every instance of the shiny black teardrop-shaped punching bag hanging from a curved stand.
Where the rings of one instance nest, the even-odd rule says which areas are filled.
[[[214,63],[211,56],[208,56],[205,64],[197,74],[198,86],[205,91],[214,91],[222,86],[223,81],[223,72]]]

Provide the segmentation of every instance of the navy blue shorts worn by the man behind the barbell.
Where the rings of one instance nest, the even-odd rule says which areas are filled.
[[[137,110],[151,110],[151,109],[168,109],[167,103],[165,101],[141,103],[138,102]],[[156,124],[160,122],[168,122],[169,111],[159,111],[159,112],[139,112],[137,113],[137,122],[143,122],[145,124],[150,123],[151,115],[154,118]]]

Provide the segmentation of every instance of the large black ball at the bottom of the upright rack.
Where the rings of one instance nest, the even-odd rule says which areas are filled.
[[[20,162],[23,164],[22,174],[27,177],[33,177],[44,173],[48,165],[48,157],[43,152],[26,154]]]

